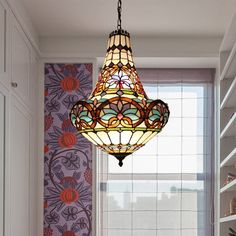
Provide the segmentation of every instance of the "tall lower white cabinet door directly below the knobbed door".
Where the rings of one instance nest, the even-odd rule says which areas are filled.
[[[29,236],[31,119],[13,97],[10,110],[11,235]]]

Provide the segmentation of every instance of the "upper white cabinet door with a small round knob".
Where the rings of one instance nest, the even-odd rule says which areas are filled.
[[[12,78],[14,91],[29,105],[30,46],[18,23],[12,23]]]

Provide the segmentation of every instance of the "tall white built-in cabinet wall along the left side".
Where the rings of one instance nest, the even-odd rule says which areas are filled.
[[[39,61],[10,8],[0,0],[0,236],[36,236]]]

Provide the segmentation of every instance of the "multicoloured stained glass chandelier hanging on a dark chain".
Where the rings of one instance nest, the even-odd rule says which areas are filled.
[[[138,77],[130,35],[121,27],[118,0],[117,30],[108,40],[105,61],[88,100],[78,101],[70,112],[79,133],[98,148],[123,159],[144,146],[166,125],[169,108],[147,97]]]

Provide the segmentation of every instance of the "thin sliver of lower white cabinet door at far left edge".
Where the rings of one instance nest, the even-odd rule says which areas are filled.
[[[0,90],[0,236],[4,235],[5,96]]]

